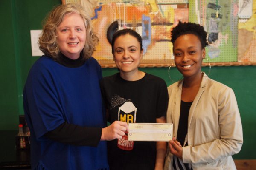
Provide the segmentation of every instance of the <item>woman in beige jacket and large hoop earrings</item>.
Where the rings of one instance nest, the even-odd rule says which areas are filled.
[[[195,23],[172,30],[175,65],[184,79],[169,86],[167,123],[173,123],[165,170],[234,170],[243,144],[236,97],[201,72],[207,33]]]

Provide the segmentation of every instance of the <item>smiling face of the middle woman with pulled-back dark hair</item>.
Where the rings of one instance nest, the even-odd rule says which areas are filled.
[[[142,55],[140,42],[134,36],[125,34],[116,38],[113,45],[113,57],[120,74],[137,74]]]

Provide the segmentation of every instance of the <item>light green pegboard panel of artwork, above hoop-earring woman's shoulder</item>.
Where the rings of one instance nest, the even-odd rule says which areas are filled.
[[[208,33],[207,57],[211,62],[237,62],[237,0],[190,0],[189,20]]]

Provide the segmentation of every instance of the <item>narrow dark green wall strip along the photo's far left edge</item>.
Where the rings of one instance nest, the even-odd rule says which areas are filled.
[[[12,3],[0,1],[0,129],[17,125],[18,99]]]

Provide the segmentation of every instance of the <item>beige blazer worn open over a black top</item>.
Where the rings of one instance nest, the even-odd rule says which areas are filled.
[[[183,80],[168,87],[166,121],[173,123],[177,136]],[[233,90],[209,79],[204,73],[201,87],[189,110],[188,146],[183,147],[183,163],[193,170],[235,170],[232,155],[241,150],[243,132]],[[164,170],[172,170],[172,154],[167,151]]]

